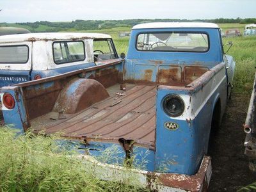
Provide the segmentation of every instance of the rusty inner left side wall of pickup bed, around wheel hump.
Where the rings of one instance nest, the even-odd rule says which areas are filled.
[[[78,79],[79,76],[84,78],[88,75],[90,76],[88,77],[89,79],[99,81],[106,88],[116,84],[118,81],[116,65],[122,60],[112,61],[105,62],[105,65],[19,84],[23,90],[24,99],[29,101],[27,105],[30,120],[51,112],[61,90],[68,82],[72,81],[72,79]],[[81,105],[81,108],[83,108],[83,105]]]

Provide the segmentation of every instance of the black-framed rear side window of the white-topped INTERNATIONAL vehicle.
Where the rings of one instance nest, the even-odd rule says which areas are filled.
[[[54,63],[72,63],[85,60],[84,42],[53,42],[53,58]]]

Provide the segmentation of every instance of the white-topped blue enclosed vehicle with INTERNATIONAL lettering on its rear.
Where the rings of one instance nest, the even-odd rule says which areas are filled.
[[[99,48],[102,49],[101,52]],[[3,35],[0,36],[0,87],[93,67],[100,65],[100,61],[115,58],[118,56],[109,35],[99,33]]]

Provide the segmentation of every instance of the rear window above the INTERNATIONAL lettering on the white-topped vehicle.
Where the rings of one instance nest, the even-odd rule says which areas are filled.
[[[27,45],[0,46],[0,63],[27,63]]]

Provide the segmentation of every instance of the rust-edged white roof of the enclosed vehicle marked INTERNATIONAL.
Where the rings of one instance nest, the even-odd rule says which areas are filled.
[[[9,42],[34,42],[39,40],[79,40],[95,38],[111,38],[111,36],[101,33],[26,33],[0,36],[0,44]]]

